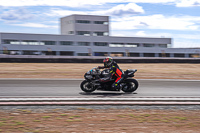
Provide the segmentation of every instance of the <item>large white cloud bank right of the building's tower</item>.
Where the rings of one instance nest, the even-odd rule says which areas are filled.
[[[198,30],[200,17],[193,16],[134,16],[114,19],[111,27],[114,30],[130,29],[165,29],[165,30]]]

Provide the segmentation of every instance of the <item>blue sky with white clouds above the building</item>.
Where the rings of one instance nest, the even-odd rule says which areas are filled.
[[[200,0],[0,0],[0,32],[60,34],[59,18],[71,14],[110,16],[111,36],[200,48]]]

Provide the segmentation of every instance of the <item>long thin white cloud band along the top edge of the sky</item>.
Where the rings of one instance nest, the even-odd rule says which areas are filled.
[[[0,6],[80,7],[85,5],[103,5],[106,3],[175,3],[177,1],[180,0],[1,0]]]

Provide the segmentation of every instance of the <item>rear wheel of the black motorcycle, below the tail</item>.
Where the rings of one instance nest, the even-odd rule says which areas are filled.
[[[126,79],[125,86],[122,88],[123,92],[134,92],[137,90],[139,84],[135,79]]]

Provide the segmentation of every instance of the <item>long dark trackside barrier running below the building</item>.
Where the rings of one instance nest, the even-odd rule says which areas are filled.
[[[0,55],[0,63],[102,63],[103,56]],[[200,58],[114,57],[118,63],[200,63]]]

